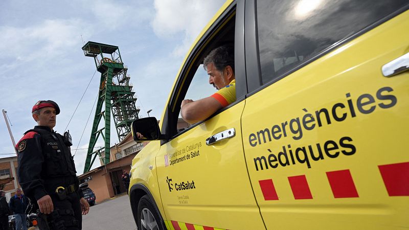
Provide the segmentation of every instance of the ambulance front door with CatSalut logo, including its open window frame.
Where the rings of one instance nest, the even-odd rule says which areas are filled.
[[[171,135],[156,157],[165,222],[170,229],[265,228],[241,140],[245,93],[238,93],[236,103],[206,121],[188,125],[179,115],[181,100],[196,101],[216,92],[201,62],[218,45],[234,44],[236,12],[233,8],[225,12],[180,71],[161,127],[162,133]],[[243,74],[239,76],[238,82],[245,81]]]

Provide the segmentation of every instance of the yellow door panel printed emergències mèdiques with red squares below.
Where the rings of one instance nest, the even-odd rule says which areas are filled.
[[[267,229],[409,227],[409,196],[390,195],[384,181],[409,167],[409,72],[381,72],[409,52],[408,28],[406,11],[246,99],[244,152]],[[331,123],[320,113],[319,126],[323,108]]]

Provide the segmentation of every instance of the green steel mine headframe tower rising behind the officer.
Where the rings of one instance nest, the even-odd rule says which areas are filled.
[[[85,56],[94,57],[97,71],[101,73],[98,103],[85,160],[84,173],[86,173],[97,155],[101,157],[102,151],[105,151],[102,162],[109,163],[111,111],[119,141],[122,141],[131,130],[132,121],[138,119],[139,108],[135,106],[137,99],[134,98],[135,93],[132,91],[132,85],[129,84],[130,77],[126,74],[128,67],[122,62],[119,48],[115,45],[88,41],[82,50]],[[99,129],[102,118],[105,126]],[[94,151],[100,135],[104,139],[105,146]]]

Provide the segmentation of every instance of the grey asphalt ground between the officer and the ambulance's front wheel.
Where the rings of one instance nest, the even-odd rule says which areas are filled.
[[[82,229],[137,229],[137,225],[132,217],[128,196],[123,195],[90,207],[89,213],[82,216]]]

